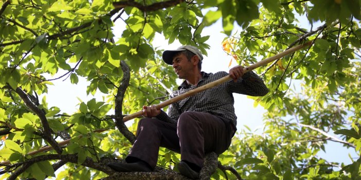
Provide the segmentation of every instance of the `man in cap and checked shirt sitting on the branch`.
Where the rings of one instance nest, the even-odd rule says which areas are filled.
[[[193,46],[182,46],[163,53],[163,61],[172,65],[178,78],[185,81],[171,97],[216,81],[227,72],[205,73],[202,53]],[[108,166],[120,172],[150,172],[156,166],[159,147],[180,153],[178,170],[196,179],[203,167],[205,154],[221,154],[228,149],[236,132],[232,93],[263,96],[268,93],[262,79],[242,66],[229,70],[233,81],[197,93],[169,106],[168,114],[154,105],[143,106],[143,118],[138,123],[136,141],[125,158],[126,163]]]

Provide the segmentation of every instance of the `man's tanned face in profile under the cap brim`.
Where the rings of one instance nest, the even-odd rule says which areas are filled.
[[[174,72],[180,79],[187,79],[189,72],[192,71],[193,66],[191,61],[188,61],[187,56],[183,53],[175,55],[172,62]]]

